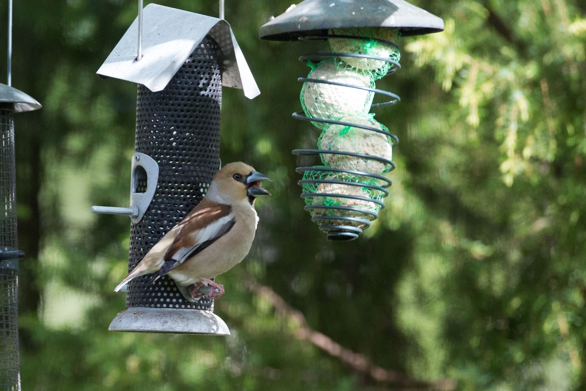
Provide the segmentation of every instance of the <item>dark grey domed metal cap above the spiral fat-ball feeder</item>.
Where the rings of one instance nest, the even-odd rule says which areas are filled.
[[[260,38],[297,40],[328,29],[390,27],[401,36],[444,30],[444,21],[404,0],[305,0],[260,28]]]

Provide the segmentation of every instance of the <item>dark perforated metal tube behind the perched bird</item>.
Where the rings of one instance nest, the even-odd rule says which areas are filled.
[[[159,165],[159,182],[142,220],[131,226],[129,271],[202,200],[219,166],[222,52],[206,36],[168,86],[138,87],[135,150]],[[186,301],[169,277],[146,287],[128,284],[127,307],[211,310],[213,301]]]

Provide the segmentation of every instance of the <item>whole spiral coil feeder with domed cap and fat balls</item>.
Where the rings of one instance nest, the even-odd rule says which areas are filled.
[[[260,28],[267,40],[327,40],[329,52],[299,57],[311,67],[299,77],[303,111],[293,113],[321,130],[321,165],[298,167],[305,210],[328,240],[356,239],[384,208],[395,168],[396,135],[374,119],[371,108],[400,97],[376,88],[376,80],[401,68],[402,36],[440,32],[444,21],[404,0],[305,0]],[[385,99],[373,103],[379,94]]]

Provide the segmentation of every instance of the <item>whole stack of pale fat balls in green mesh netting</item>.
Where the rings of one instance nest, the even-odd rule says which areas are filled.
[[[400,59],[397,47],[389,43],[398,41],[397,29],[333,29],[329,33],[356,37],[330,38],[333,53],[368,55],[396,62]],[[374,131],[389,130],[374,120],[373,114],[369,114],[374,92],[362,88],[374,89],[374,81],[386,75],[394,64],[377,59],[335,56],[319,63],[309,62],[311,72],[307,78],[345,85],[305,81],[301,88],[301,106],[307,117],[350,125],[312,121],[315,127],[322,130],[318,148],[323,151],[320,156],[325,166],[315,166],[314,169],[305,171],[301,183],[304,193],[314,194],[304,196],[306,209],[321,229],[327,232],[344,232],[342,227],[328,226],[364,229],[369,226],[370,221],[376,219],[377,212],[383,206],[382,199],[386,192],[375,187],[380,186],[377,179],[335,170],[381,175],[393,168],[391,138]],[[352,232],[352,229],[346,230]]]

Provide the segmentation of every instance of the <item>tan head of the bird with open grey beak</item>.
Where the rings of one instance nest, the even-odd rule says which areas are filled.
[[[261,181],[270,180],[243,162],[226,164],[214,175],[206,197],[227,204],[247,199],[253,204],[256,197],[271,195],[267,189],[261,188]]]

